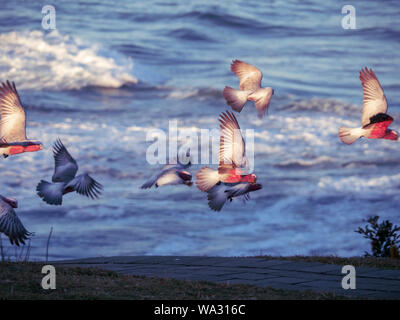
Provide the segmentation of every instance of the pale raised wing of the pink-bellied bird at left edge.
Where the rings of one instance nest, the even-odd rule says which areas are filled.
[[[21,142],[26,138],[26,115],[15,83],[2,82],[0,86],[0,140]]]

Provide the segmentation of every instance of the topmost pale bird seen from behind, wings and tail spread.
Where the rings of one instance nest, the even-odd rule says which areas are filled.
[[[240,80],[239,90],[226,86],[223,95],[226,103],[233,110],[240,112],[247,100],[254,101],[258,111],[258,117],[262,118],[268,112],[271,97],[274,89],[270,87],[262,88],[262,73],[251,64],[240,60],[234,60],[231,70]]]

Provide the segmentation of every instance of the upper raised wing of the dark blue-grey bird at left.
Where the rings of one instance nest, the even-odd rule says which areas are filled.
[[[55,161],[53,182],[69,182],[78,172],[78,164],[69,154],[60,139],[54,143],[53,155]]]

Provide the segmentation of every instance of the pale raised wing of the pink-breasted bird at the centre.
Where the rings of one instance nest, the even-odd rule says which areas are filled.
[[[245,142],[235,115],[229,111],[222,113],[220,122],[220,141],[218,172],[225,174],[235,168],[248,166],[245,155]]]

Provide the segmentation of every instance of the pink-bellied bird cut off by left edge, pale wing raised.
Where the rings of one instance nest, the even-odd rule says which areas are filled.
[[[0,86],[0,155],[34,152],[43,149],[40,141],[26,137],[26,114],[19,98],[15,83],[2,83]]]

